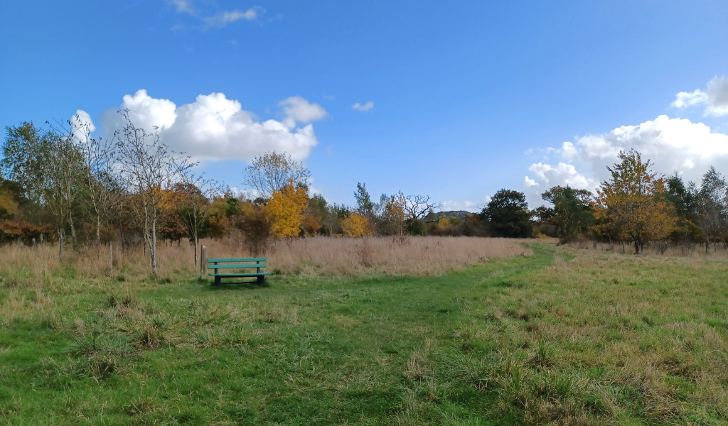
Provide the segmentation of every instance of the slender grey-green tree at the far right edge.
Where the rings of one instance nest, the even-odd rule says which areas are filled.
[[[711,241],[713,247],[718,241],[725,240],[728,228],[728,185],[726,180],[715,167],[711,166],[703,174],[698,193],[698,220],[705,233],[705,252]]]

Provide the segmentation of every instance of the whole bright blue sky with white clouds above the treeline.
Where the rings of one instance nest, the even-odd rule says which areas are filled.
[[[535,206],[550,185],[594,188],[618,148],[728,173],[727,23],[722,0],[12,1],[0,124],[82,110],[103,136],[136,105],[231,186],[290,147],[338,203],[366,182]]]

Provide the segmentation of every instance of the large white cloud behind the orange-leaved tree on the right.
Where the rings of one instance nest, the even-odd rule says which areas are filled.
[[[533,177],[526,176],[523,181],[529,202],[541,204],[536,193],[553,185],[593,190],[609,178],[606,166],[618,161],[620,150],[630,148],[652,161],[655,172],[677,171],[685,180],[700,181],[711,165],[728,171],[727,134],[713,133],[709,126],[686,118],[658,116],[637,126],[579,137],[576,143],[563,142],[561,149],[555,150],[563,162],[557,166],[533,164],[529,168]],[[588,172],[577,172],[577,167]]]

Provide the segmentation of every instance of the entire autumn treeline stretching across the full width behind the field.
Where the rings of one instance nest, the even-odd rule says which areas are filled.
[[[239,238],[264,253],[276,238],[297,236],[499,236],[585,238],[706,249],[728,241],[728,197],[711,168],[700,186],[678,174],[658,176],[639,153],[620,153],[596,194],[554,187],[550,207],[529,210],[526,197],[499,190],[482,212],[435,212],[429,196],[401,191],[372,198],[365,184],[355,206],[309,193],[310,172],[285,153],[266,153],[243,173],[248,190],[234,193],[193,172],[191,158],[171,152],[157,134],[125,126],[112,140],[91,137],[77,118],[68,128],[31,123],[6,128],[0,161],[0,243],[110,244],[149,252],[157,269],[158,240],[188,239],[197,262],[200,238]]]

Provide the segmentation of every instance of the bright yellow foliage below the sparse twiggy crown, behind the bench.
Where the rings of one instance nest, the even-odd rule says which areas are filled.
[[[277,237],[298,236],[304,211],[309,205],[309,190],[305,187],[293,187],[289,180],[280,191],[273,191],[272,198],[265,206],[265,211],[273,220],[273,235]]]

